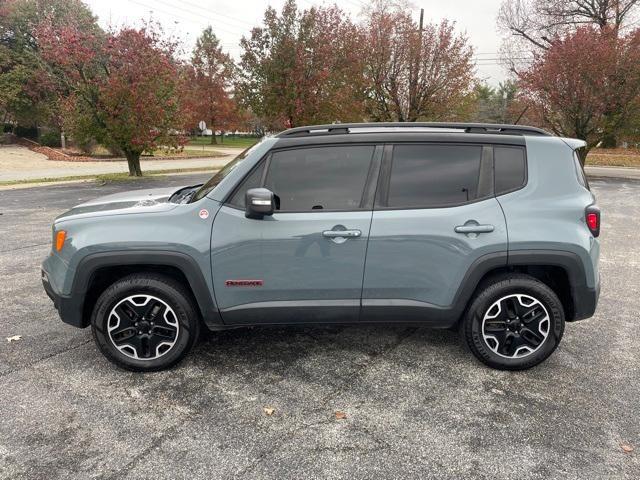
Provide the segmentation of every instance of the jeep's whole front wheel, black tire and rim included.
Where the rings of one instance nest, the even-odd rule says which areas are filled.
[[[164,370],[189,352],[200,333],[190,293],[159,274],[132,274],[98,298],[91,331],[102,354],[137,372]]]

